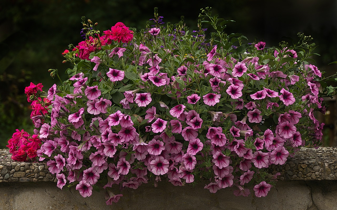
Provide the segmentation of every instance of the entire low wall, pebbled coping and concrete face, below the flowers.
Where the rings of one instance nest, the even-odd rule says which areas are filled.
[[[196,186],[174,186],[169,182],[142,184],[123,190],[123,197],[106,206],[104,191],[83,198],[74,188],[61,190],[45,162],[13,162],[8,150],[0,151],[0,209],[176,209],[176,210],[337,210],[337,148],[302,149],[284,166],[270,168],[282,174],[265,198],[236,197],[233,189],[217,193]],[[116,189],[116,192],[118,189]],[[253,192],[253,190],[251,189]]]

